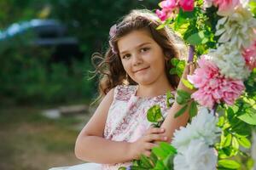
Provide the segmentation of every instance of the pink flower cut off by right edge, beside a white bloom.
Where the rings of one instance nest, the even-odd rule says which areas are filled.
[[[256,41],[253,42],[251,47],[243,50],[242,56],[250,70],[256,68]]]

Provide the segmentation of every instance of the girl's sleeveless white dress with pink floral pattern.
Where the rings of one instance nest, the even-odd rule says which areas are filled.
[[[153,98],[136,96],[137,86],[117,86],[114,88],[113,103],[108,111],[104,138],[114,141],[134,142],[147,131],[151,123],[147,111],[153,105],[160,105],[163,116],[167,114],[166,94]],[[174,102],[171,99],[169,102]],[[125,154],[125,153],[124,153]],[[50,170],[118,170],[129,167],[131,162],[116,164],[84,163],[73,167],[55,167]]]

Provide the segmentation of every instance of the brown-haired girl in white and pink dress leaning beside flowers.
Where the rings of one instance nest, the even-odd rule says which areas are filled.
[[[180,59],[186,48],[170,28],[156,30],[158,26],[155,14],[133,10],[111,28],[110,48],[96,70],[103,75],[99,84],[103,99],[75,144],[79,159],[96,163],[60,169],[128,167],[141,154],[149,156],[158,142],[171,142],[173,132],[186,125],[188,111],[174,118],[181,105],[174,99],[171,109],[166,105],[167,91],[191,93],[177,76],[169,74],[170,59]],[[194,70],[195,65],[187,65],[183,78]],[[160,105],[166,117],[160,128],[150,127],[147,121],[153,105]]]

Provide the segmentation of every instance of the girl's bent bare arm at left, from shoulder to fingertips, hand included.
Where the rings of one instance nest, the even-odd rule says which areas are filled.
[[[116,142],[103,138],[108,110],[113,102],[113,89],[102,100],[95,114],[83,128],[75,144],[75,155],[83,161],[96,163],[121,163],[138,159],[141,154],[150,155],[155,144],[152,141],[166,141],[160,128],[149,128],[137,141]]]

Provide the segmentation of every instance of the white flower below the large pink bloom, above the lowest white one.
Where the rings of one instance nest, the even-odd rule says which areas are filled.
[[[181,127],[175,131],[173,146],[178,152],[183,153],[187,150],[190,141],[194,139],[201,139],[208,145],[214,144],[220,132],[220,129],[216,127],[217,122],[218,118],[209,114],[207,108],[202,107],[187,127]]]

